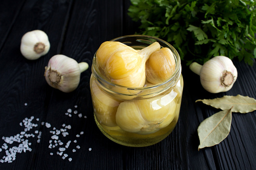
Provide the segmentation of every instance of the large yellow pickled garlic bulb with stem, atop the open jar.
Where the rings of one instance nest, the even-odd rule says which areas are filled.
[[[143,87],[146,80],[146,60],[159,49],[157,42],[135,50],[123,43],[108,41],[98,49],[96,60],[111,82],[126,87]]]

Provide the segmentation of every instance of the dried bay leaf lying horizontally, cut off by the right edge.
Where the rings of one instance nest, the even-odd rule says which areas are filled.
[[[248,113],[256,110],[256,100],[248,96],[223,96],[216,99],[196,100],[198,101],[221,110],[227,110],[233,106],[232,112]]]

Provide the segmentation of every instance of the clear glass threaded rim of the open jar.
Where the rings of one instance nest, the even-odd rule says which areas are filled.
[[[119,85],[119,84],[115,84],[115,83],[111,82],[110,80],[104,78],[101,75],[99,69],[96,67],[96,54],[97,54],[97,51],[96,51],[96,53],[94,55],[93,67],[92,67],[92,69],[93,69],[92,72],[93,73],[96,72],[94,74],[94,77],[96,77],[97,79],[100,79],[102,83],[104,83],[104,84],[106,83],[109,86],[115,86],[115,87],[118,87],[118,88],[126,88],[128,90],[133,90],[133,91],[150,90],[150,89],[154,89],[154,88],[165,86],[165,85],[167,85],[167,87],[170,87],[170,86],[174,86],[177,83],[177,80],[181,76],[181,69],[182,69],[181,68],[181,59],[180,59],[179,53],[177,52],[177,50],[172,45],[170,45],[166,41],[161,40],[157,37],[146,36],[146,35],[127,35],[127,36],[117,37],[117,38],[112,39],[110,41],[120,42],[122,40],[123,44],[129,45],[131,43],[129,41],[129,39],[132,39],[132,40],[136,39],[137,42],[142,42],[143,44],[147,44],[147,46],[154,43],[154,42],[158,42],[160,44],[161,48],[163,48],[163,47],[169,48],[173,52],[173,54],[175,56],[175,62],[176,62],[176,68],[175,68],[175,71],[172,74],[172,76],[170,76],[168,79],[166,79],[165,81],[163,81],[161,83],[154,84],[154,85],[151,85],[151,86],[144,86],[144,87],[127,87],[127,86],[122,86],[122,85]],[[123,42],[123,40],[127,40],[127,41]],[[133,46],[131,46],[131,47],[133,47]],[[164,88],[164,89],[166,89],[166,88]],[[135,94],[137,94],[137,93],[135,93]]]

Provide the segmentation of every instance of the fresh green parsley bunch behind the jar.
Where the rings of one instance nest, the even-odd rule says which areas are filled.
[[[189,65],[214,56],[252,65],[256,58],[253,0],[130,0],[128,15],[139,31],[172,44]]]

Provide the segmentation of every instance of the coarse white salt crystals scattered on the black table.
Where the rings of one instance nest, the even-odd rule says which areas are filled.
[[[27,103],[25,103],[25,105],[27,105]],[[75,105],[74,107],[77,108],[77,105]],[[69,117],[71,117],[72,116],[71,113],[72,113],[72,109],[67,109],[67,113],[65,113],[65,114],[68,115]],[[78,111],[74,110],[73,113],[77,114]],[[82,113],[79,113],[78,117],[82,117]],[[87,116],[84,116],[84,118],[87,118]],[[38,124],[32,122],[33,119],[34,119],[34,116],[31,116],[30,118],[26,117],[22,120],[22,122],[19,123],[20,126],[24,126],[24,129],[23,129],[23,131],[20,132],[20,134],[10,136],[10,137],[4,137],[4,136],[2,137],[2,139],[5,140],[6,143],[4,143],[2,145],[2,148],[0,148],[0,152],[2,152],[3,149],[5,149],[6,155],[4,155],[2,159],[0,159],[0,162],[2,162],[2,163],[13,162],[16,159],[17,153],[32,151],[32,148],[30,148],[31,142],[29,142],[28,139],[26,139],[26,138],[35,137],[35,134],[38,134],[37,135],[37,138],[38,138],[37,143],[40,143],[42,131],[35,130],[34,131],[35,134],[31,133],[31,131],[30,131],[31,129],[33,129],[33,127],[38,126]],[[39,118],[36,118],[36,121],[39,121]],[[50,123],[41,122],[41,125],[44,125],[44,124],[47,128],[51,127]],[[65,124],[62,124],[62,127],[64,127],[64,128],[61,128],[59,130],[56,129],[55,127],[53,127],[53,130],[50,131],[50,133],[52,133],[53,135],[51,136],[52,140],[49,140],[49,143],[50,143],[48,146],[49,148],[53,149],[57,145],[63,145],[63,142],[61,140],[59,140],[58,135],[62,134],[63,137],[68,135],[69,133],[67,132],[67,130],[71,129],[71,125],[66,126]],[[80,135],[83,133],[84,132],[81,131]],[[80,135],[77,134],[76,137],[79,137]],[[53,140],[54,140],[55,144],[52,144]],[[8,144],[13,144],[14,142],[18,142],[18,146],[13,146],[13,147],[9,148]],[[74,140],[73,142],[76,143],[77,141]],[[70,143],[71,143],[71,140],[69,140],[66,143],[65,147],[59,147],[60,152],[57,152],[57,154],[59,154],[61,156],[63,154],[63,151],[65,151],[69,147]],[[9,150],[8,150],[8,148],[9,148]],[[77,145],[76,148],[79,149],[80,146]],[[89,150],[91,151],[92,148],[89,148]],[[76,151],[76,149],[72,149],[72,152],[75,152],[75,151]],[[50,155],[53,155],[53,152],[50,152]],[[62,158],[65,159],[65,157],[67,157],[67,156],[68,156],[68,154],[64,153]],[[72,158],[69,157],[68,160],[71,161]]]

